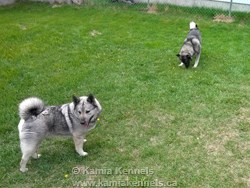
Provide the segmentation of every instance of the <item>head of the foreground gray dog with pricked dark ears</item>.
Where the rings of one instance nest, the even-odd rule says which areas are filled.
[[[73,96],[74,116],[84,127],[92,127],[95,125],[102,107],[97,99],[90,94],[89,96],[76,97]]]

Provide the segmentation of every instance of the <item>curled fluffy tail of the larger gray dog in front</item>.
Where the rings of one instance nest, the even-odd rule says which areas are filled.
[[[30,97],[19,104],[19,116],[27,120],[32,116],[37,116],[45,108],[43,101],[37,97]]]

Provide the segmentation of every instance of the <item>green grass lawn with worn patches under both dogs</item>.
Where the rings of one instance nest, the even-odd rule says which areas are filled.
[[[249,22],[130,9],[0,8],[1,187],[250,186]],[[203,50],[187,70],[176,54],[191,20]],[[18,103],[39,96],[57,105],[90,92],[104,110],[84,146],[89,156],[71,138],[49,138],[20,173]]]

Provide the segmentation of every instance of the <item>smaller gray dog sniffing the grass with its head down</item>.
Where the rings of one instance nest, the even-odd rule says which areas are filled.
[[[193,56],[195,55],[196,59],[194,68],[196,68],[199,64],[201,55],[201,34],[195,22],[190,22],[189,27],[190,31],[181,47],[179,54],[177,54],[177,57],[179,57],[181,61],[179,66],[185,65],[185,67],[188,68]]]

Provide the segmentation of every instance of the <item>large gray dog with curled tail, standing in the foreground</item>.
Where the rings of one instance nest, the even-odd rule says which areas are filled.
[[[47,135],[72,135],[75,149],[81,156],[85,135],[93,129],[102,107],[93,95],[75,97],[73,102],[62,106],[45,107],[43,101],[32,97],[19,105],[18,124],[22,159],[20,171],[26,172],[29,158],[39,158],[37,149]]]

